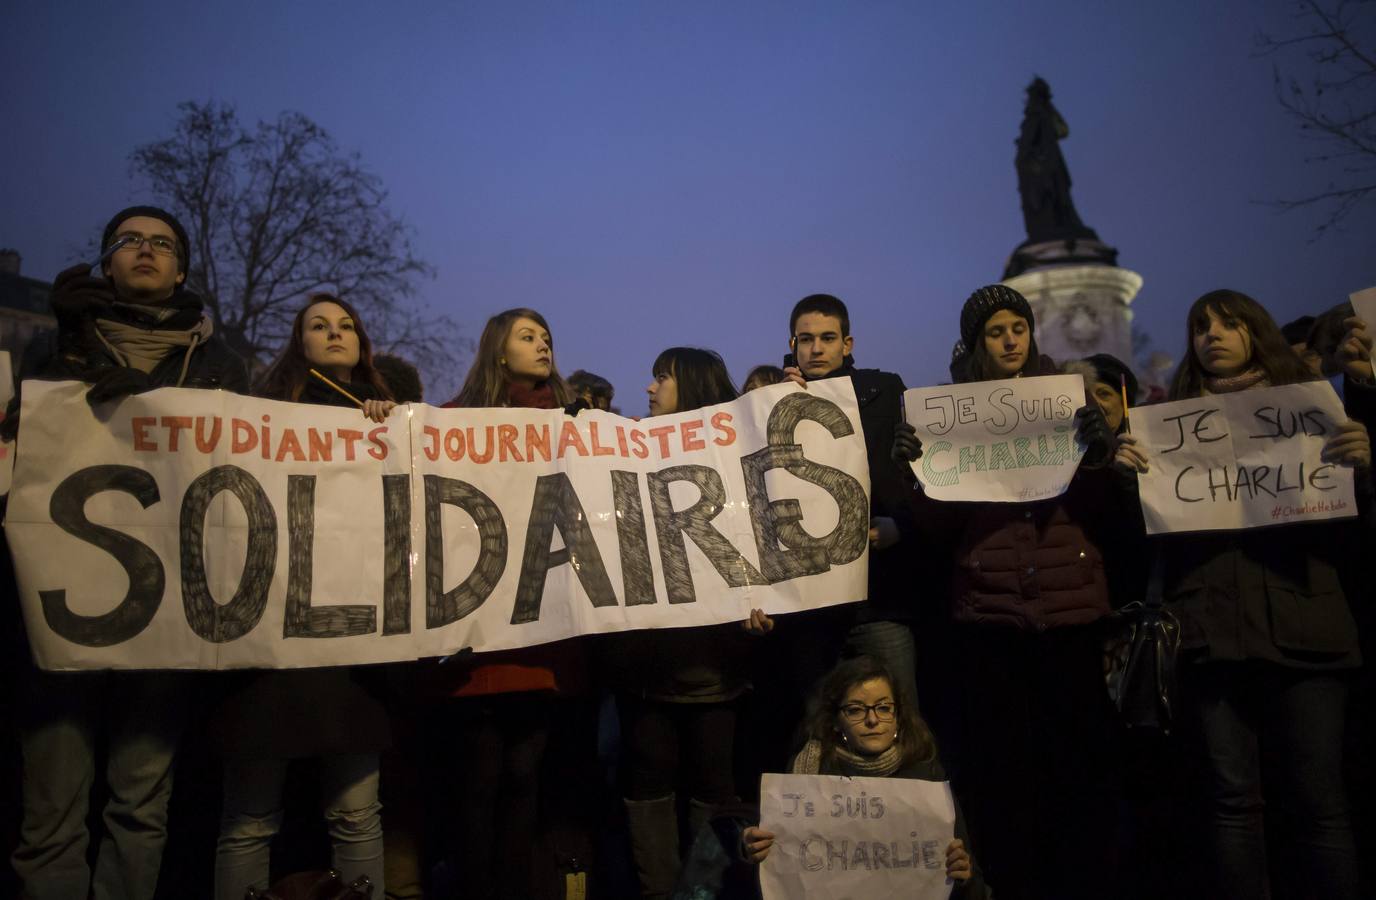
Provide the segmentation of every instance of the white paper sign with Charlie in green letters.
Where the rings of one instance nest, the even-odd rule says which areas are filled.
[[[1084,378],[1043,376],[914,388],[904,413],[922,440],[912,471],[933,500],[1024,502],[1065,493],[1084,447]]]

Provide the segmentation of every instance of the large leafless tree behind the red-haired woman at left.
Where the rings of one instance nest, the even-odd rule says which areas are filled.
[[[300,113],[245,128],[231,105],[178,109],[172,136],[131,154],[131,175],[186,224],[187,283],[231,347],[266,362],[305,296],[325,290],[359,308],[378,351],[458,369],[469,343],[450,318],[409,303],[431,267],[358,154]]]

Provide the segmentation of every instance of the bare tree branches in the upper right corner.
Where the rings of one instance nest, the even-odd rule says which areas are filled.
[[[1331,180],[1276,205],[1324,209],[1321,235],[1376,198],[1376,0],[1300,0],[1295,21],[1295,34],[1262,33],[1256,44],[1260,54],[1284,58],[1288,69],[1307,69],[1302,77],[1277,62],[1276,99],[1315,142],[1318,151],[1307,161],[1328,169]]]

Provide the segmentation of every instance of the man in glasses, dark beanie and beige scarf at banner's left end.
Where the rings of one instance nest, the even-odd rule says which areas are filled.
[[[125,209],[106,226],[100,246],[103,278],[92,277],[88,263],[58,275],[58,330],[34,339],[21,377],[88,381],[87,399],[96,407],[157,387],[248,391],[244,361],[215,334],[204,303],[184,288],[187,235],[171,213]],[[23,824],[11,857],[22,894],[151,900],[189,677],[30,669],[25,681]],[[87,805],[102,738],[109,801],[92,874]]]

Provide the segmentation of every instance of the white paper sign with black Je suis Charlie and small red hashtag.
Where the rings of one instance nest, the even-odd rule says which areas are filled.
[[[1148,534],[1355,516],[1353,471],[1320,460],[1346,420],[1326,381],[1134,407]]]

